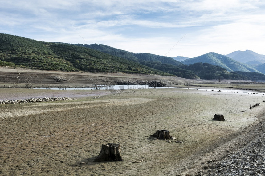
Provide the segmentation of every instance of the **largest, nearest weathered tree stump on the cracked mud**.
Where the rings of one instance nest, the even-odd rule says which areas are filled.
[[[102,144],[100,154],[94,161],[124,161],[120,155],[120,144]]]

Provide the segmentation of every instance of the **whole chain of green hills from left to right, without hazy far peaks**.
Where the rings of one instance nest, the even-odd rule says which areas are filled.
[[[258,71],[263,70],[262,65],[256,65],[259,68],[256,69],[218,53],[173,59],[150,53],[132,53],[102,44],[43,42],[3,33],[0,33],[0,66],[174,75],[188,79],[254,80],[259,77],[259,80],[265,80],[265,75]]]

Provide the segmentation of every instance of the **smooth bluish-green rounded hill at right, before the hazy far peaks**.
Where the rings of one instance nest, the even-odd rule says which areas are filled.
[[[242,64],[238,61],[231,59],[230,57],[224,56],[218,53],[206,53],[202,56],[186,59],[182,61],[183,64],[194,64],[197,62],[209,63],[212,65],[218,65],[225,68],[227,71],[241,71],[241,72],[258,72],[255,68]]]

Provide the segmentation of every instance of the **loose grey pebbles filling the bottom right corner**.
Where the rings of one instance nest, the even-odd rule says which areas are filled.
[[[242,150],[227,155],[221,161],[208,162],[196,176],[265,175],[265,133],[258,134]]]

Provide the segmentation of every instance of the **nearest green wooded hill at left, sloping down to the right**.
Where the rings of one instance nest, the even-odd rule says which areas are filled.
[[[0,33],[0,65],[42,70],[126,72],[169,75],[134,61],[65,43]]]

